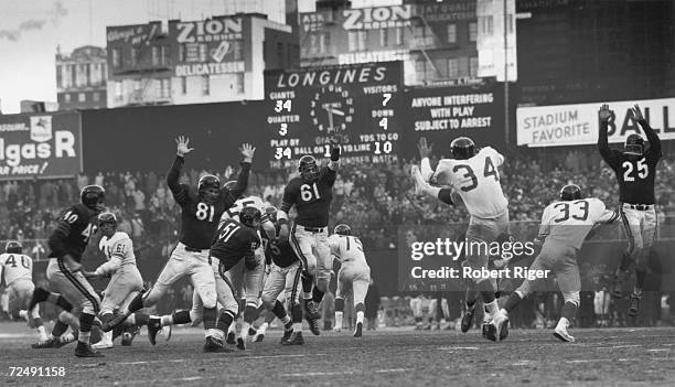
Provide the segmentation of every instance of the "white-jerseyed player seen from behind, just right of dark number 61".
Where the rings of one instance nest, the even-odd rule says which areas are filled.
[[[371,267],[363,254],[363,244],[352,235],[352,228],[345,224],[335,226],[333,235],[329,237],[331,254],[342,264],[338,272],[338,290],[335,291],[335,326],[334,331],[342,330],[342,313],[344,298],[352,289],[354,311],[356,312],[356,329],[354,337],[361,337],[363,332],[363,316],[365,313],[365,297],[371,284]]]

